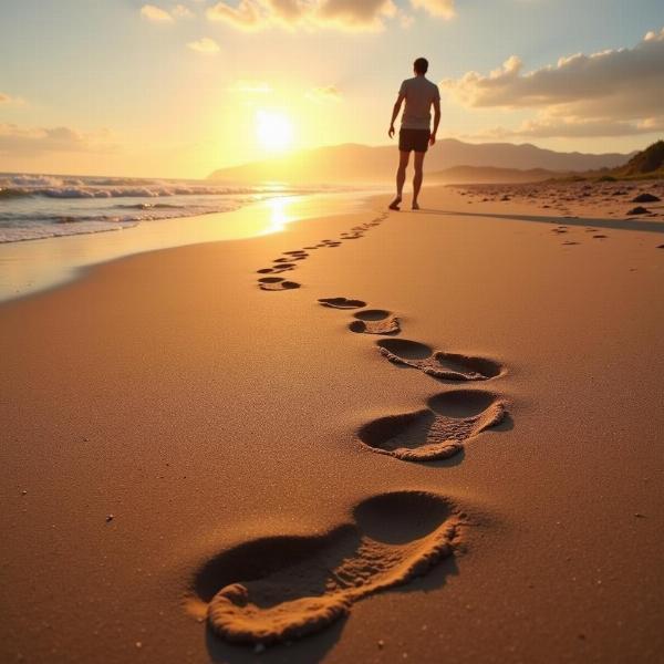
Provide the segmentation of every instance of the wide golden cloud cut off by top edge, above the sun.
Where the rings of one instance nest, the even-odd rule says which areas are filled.
[[[427,6],[446,6],[447,0],[414,0]],[[424,7],[424,4],[423,4]],[[408,24],[408,17],[394,0],[230,0],[207,10],[210,21],[224,21],[239,30],[264,30],[281,27],[290,30],[381,30],[387,19]]]

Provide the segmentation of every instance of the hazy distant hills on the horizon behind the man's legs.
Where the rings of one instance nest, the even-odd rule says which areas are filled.
[[[446,179],[450,168],[470,168],[465,174],[447,173],[453,181],[464,181],[466,177],[484,175],[485,179],[473,181],[525,181],[530,175],[518,172],[543,169],[547,173],[536,176],[546,179],[553,175],[570,172],[599,170],[623,166],[635,153],[608,153],[601,155],[583,153],[559,153],[542,149],[535,145],[513,145],[511,143],[470,144],[445,138],[438,141],[426,157],[429,174],[436,174],[439,181]],[[209,179],[236,184],[257,184],[281,181],[289,184],[375,184],[391,181],[394,178],[397,151],[394,145],[370,147],[345,144],[319,147],[216,170]],[[471,168],[481,168],[484,174],[473,173]],[[505,173],[499,173],[504,170]],[[458,179],[463,175],[461,179]],[[429,176],[430,177],[430,176]],[[486,179],[490,178],[490,179]],[[508,178],[508,179],[506,179]],[[515,178],[517,178],[515,180]],[[470,181],[465,179],[465,181]]]

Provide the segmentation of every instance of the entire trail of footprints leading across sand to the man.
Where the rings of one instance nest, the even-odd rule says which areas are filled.
[[[310,251],[364,237],[385,217],[341,234],[340,240],[284,251],[272,267],[258,270],[269,274],[258,279],[259,287],[300,288],[274,274],[297,269]],[[367,309],[363,300],[332,297],[318,303],[350,312],[351,332],[382,335],[376,345],[396,365],[457,382],[488,381],[505,373],[491,360],[396,339],[400,319],[385,309]],[[357,438],[381,455],[432,461],[458,454],[506,415],[506,402],[492,392],[450,390],[432,396],[418,411],[364,424]],[[352,521],[324,535],[270,537],[221,552],[199,570],[194,604],[205,608],[210,630],[225,641],[261,647],[290,642],[347,615],[359,600],[425,574],[454,553],[464,517],[447,498],[433,492],[382,494],[356,505]]]

